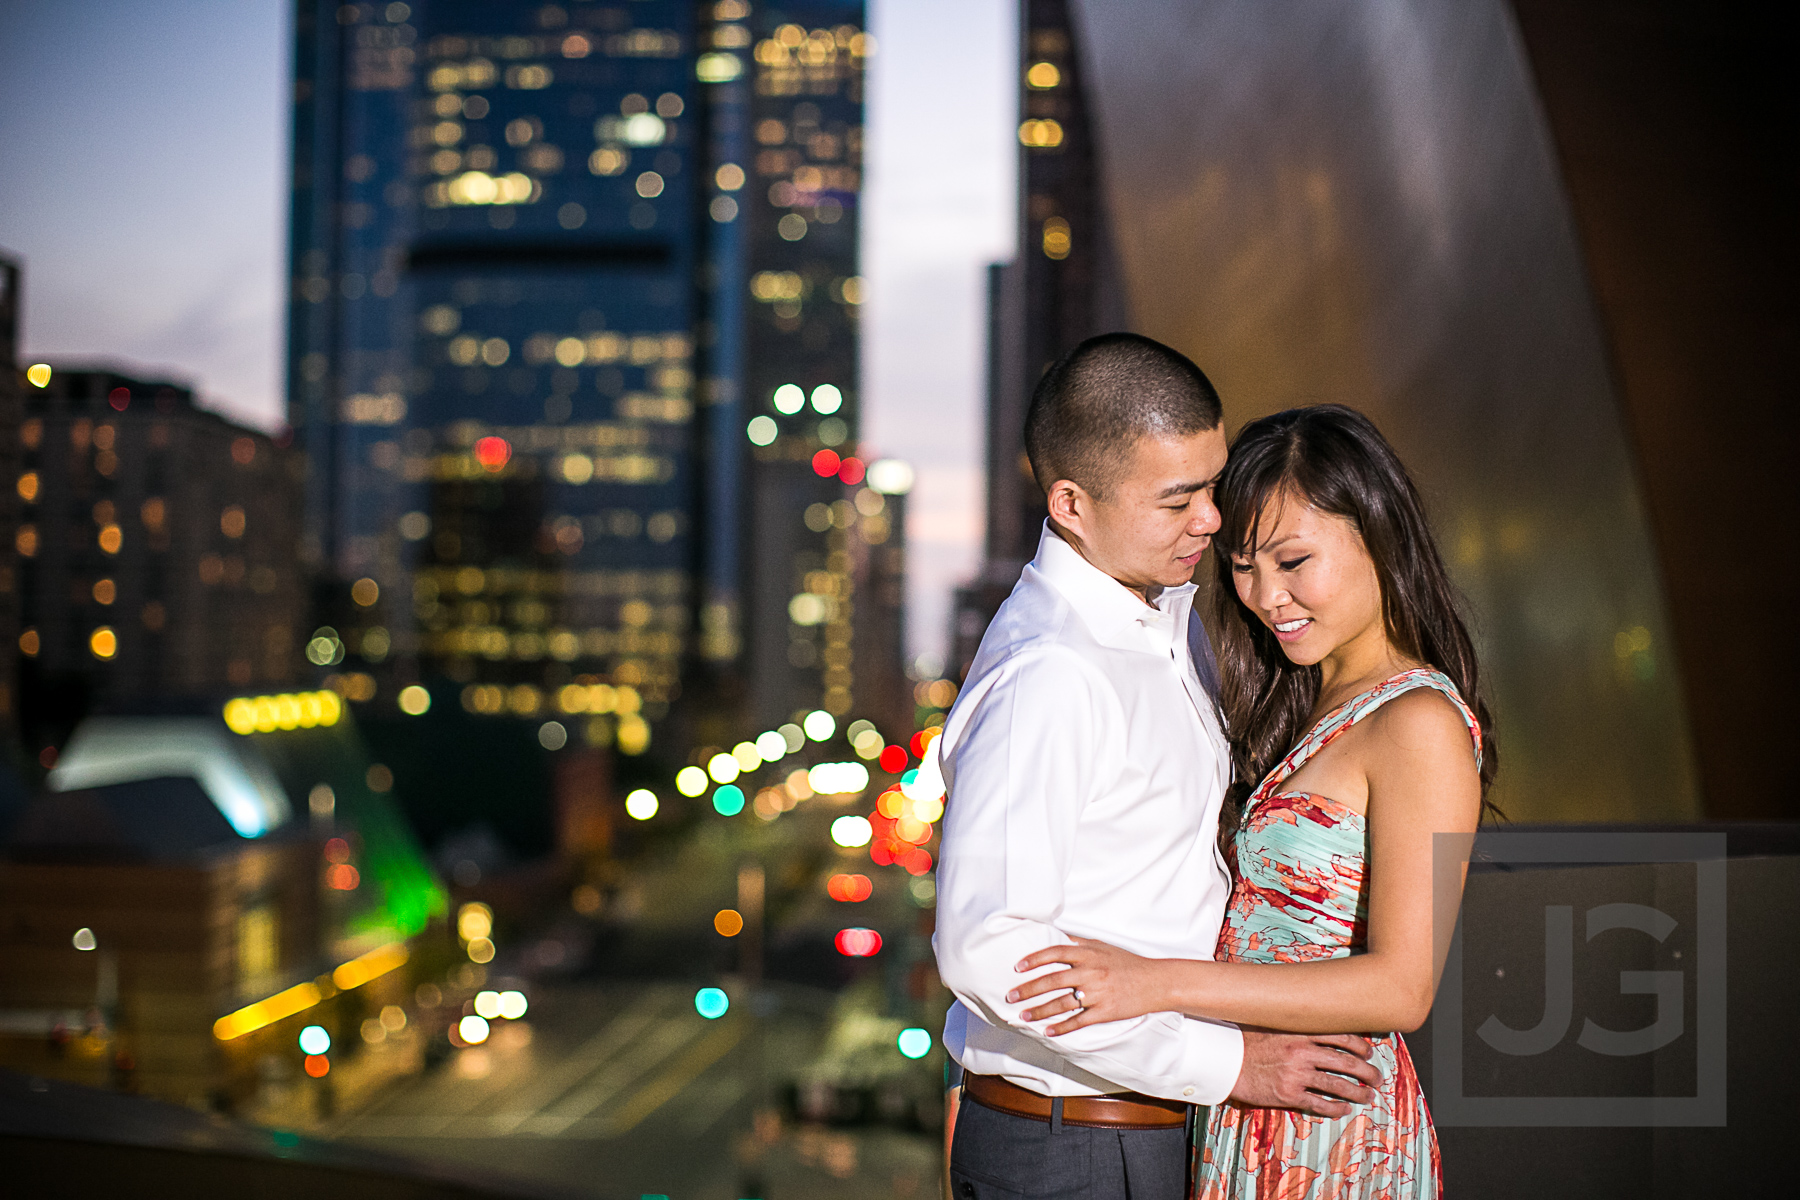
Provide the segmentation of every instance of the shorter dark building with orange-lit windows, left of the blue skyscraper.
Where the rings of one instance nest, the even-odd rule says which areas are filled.
[[[13,527],[29,748],[94,705],[290,684],[306,604],[292,452],[175,383],[40,371]]]

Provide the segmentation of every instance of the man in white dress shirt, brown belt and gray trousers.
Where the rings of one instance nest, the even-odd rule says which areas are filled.
[[[1019,959],[1071,936],[1210,959],[1229,896],[1229,756],[1192,583],[1219,529],[1219,394],[1150,338],[1091,338],[1039,383],[1026,453],[1049,520],[938,741],[952,1196],[1184,1200],[1192,1105],[1343,1114],[1377,1076],[1363,1038],[1175,1013],[1049,1038],[1008,1000]]]

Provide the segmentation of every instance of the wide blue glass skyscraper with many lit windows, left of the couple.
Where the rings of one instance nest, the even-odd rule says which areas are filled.
[[[848,711],[860,16],[301,0],[290,419],[376,703],[607,685],[628,754],[684,673],[729,736]]]

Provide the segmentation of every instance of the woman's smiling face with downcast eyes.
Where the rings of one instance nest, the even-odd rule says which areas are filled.
[[[1280,493],[1258,533],[1255,554],[1231,556],[1231,581],[1291,662],[1312,666],[1354,642],[1386,639],[1381,579],[1355,525]]]

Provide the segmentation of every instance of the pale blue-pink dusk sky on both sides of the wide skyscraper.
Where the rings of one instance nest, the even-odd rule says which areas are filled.
[[[283,419],[290,4],[0,0],[0,248],[23,354]],[[909,459],[909,644],[981,547],[983,266],[1012,245],[1006,0],[871,0],[862,434]]]

